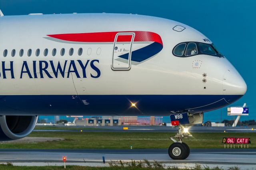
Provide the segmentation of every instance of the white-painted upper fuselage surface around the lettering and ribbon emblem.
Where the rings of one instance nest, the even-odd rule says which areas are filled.
[[[173,30],[180,25],[186,29],[182,32]],[[163,43],[163,49],[146,61],[132,62],[129,71],[113,71],[111,69],[114,43],[83,43],[52,41],[52,34],[74,34],[95,32],[126,32],[148,31],[158,34]],[[206,36],[197,30],[163,18],[140,16],[132,14],[53,14],[30,16],[2,16],[0,17],[0,61],[5,61],[5,67],[10,68],[13,61],[14,78],[10,71],[6,71],[3,78],[2,64],[0,64],[0,95],[244,95],[246,84],[238,71],[225,57],[211,55],[195,55],[191,57],[176,57],[172,49],[181,42],[206,42]],[[152,42],[136,43],[133,49],[139,49]],[[44,49],[48,55],[44,56]],[[56,56],[52,56],[52,49],[56,48]],[[64,56],[60,50],[64,48]],[[69,49],[74,48],[74,54],[69,55]],[[78,49],[83,53],[78,55]],[[3,56],[4,50],[8,55]],[[11,56],[12,49],[16,55]],[[19,56],[20,49],[24,55]],[[32,55],[28,57],[28,49]],[[36,56],[36,49],[40,55]],[[70,61],[74,60],[78,73],[67,70]],[[87,60],[86,77],[83,78],[82,68],[77,60],[83,64]],[[97,72],[90,67],[92,60],[100,70],[100,77],[93,78]],[[21,71],[24,61],[27,62],[32,78]],[[34,77],[33,61],[36,62]],[[47,71],[54,78],[42,73],[40,77],[39,61],[48,62]],[[58,61],[66,71],[64,78],[60,73],[54,76],[50,61],[57,66]],[[195,63],[199,63],[195,67]],[[24,68],[23,68],[24,69]],[[24,71],[24,70],[23,70]],[[203,77],[206,74],[206,77]],[[203,82],[203,79],[206,82]],[[74,113],[75,114],[75,113]]]

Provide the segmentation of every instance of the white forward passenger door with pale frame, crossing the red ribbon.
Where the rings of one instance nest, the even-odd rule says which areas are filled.
[[[131,39],[129,36],[132,36]],[[118,38],[124,42],[118,42]],[[117,33],[114,40],[113,52],[112,52],[112,63],[111,69],[113,71],[129,71],[131,69],[131,59],[132,59],[132,44],[134,42],[135,33],[134,32],[120,32]],[[129,40],[130,39],[130,40]],[[129,40],[129,41],[127,41]],[[118,48],[121,47],[121,48]],[[125,49],[125,47],[127,49]],[[123,49],[123,52],[122,52]],[[126,51],[125,51],[126,50]],[[126,55],[128,51],[128,58],[121,58],[120,55]]]

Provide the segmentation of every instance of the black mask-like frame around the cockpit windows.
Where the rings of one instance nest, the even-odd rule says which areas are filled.
[[[198,50],[198,53],[196,54],[193,54],[193,55],[185,55],[185,52],[183,53],[183,55],[176,55],[174,54],[174,50],[175,48],[182,44],[182,43],[186,43],[186,46],[185,46],[185,49],[187,49],[187,46],[189,43],[195,43],[196,44],[196,47],[197,47],[197,50]],[[172,49],[172,55],[176,56],[176,57],[182,57],[182,58],[185,58],[185,57],[192,57],[192,56],[195,56],[195,55],[210,55],[210,54],[204,54],[204,53],[201,53],[200,50],[198,49],[198,44],[199,43],[202,43],[202,42],[180,42],[178,43],[177,45],[174,46],[174,48]],[[210,55],[210,56],[214,56],[214,57],[224,57],[222,54],[220,54],[215,48],[214,48],[214,44],[213,43],[202,43],[202,44],[206,44],[206,45],[210,45],[216,52],[216,55]]]

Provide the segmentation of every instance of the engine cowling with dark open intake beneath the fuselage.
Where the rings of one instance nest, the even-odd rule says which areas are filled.
[[[38,116],[0,116],[0,141],[17,140],[30,134]]]

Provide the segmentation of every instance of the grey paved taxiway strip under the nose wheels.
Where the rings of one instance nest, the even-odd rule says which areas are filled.
[[[122,160],[147,159],[150,162],[161,162],[164,166],[192,167],[196,163],[209,167],[224,169],[238,166],[241,169],[256,169],[256,149],[191,149],[186,160],[171,160],[167,149],[1,149],[0,162],[12,162],[22,166],[63,165],[62,157],[66,156],[67,165],[109,166],[108,162]],[[106,164],[102,163],[102,156]]]

